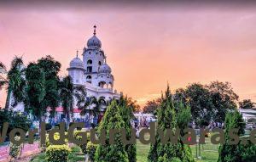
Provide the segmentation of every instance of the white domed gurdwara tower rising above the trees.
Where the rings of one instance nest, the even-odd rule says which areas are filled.
[[[68,75],[73,79],[74,85],[84,86],[88,97],[102,98],[106,102],[119,98],[120,94],[113,91],[112,70],[107,64],[106,55],[102,50],[102,42],[96,37],[96,26],[93,36],[83,50],[83,61],[77,57],[70,64]]]

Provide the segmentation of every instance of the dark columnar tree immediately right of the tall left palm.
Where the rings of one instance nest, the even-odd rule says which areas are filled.
[[[36,116],[39,122],[46,113],[43,106],[45,96],[45,73],[38,64],[30,63],[26,68],[26,110]]]

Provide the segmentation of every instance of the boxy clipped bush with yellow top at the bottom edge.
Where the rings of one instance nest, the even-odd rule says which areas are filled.
[[[46,161],[66,162],[71,149],[67,145],[50,145],[46,148]]]

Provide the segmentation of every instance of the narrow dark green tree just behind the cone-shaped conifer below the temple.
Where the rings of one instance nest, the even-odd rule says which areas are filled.
[[[127,96],[124,97],[121,95],[119,99],[119,112],[122,117],[122,119],[125,122],[125,131],[126,131],[126,139],[131,139],[131,120],[134,119],[133,115],[133,108],[132,105],[128,104],[128,98]],[[129,162],[136,162],[136,144],[126,144],[125,145],[125,151],[128,155]]]

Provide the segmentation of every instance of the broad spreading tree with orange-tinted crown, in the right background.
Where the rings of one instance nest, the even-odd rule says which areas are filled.
[[[225,114],[236,109],[238,96],[229,82],[212,81],[208,85],[193,83],[185,89],[179,88],[173,99],[189,105],[195,124],[208,126],[211,120],[223,123]]]

